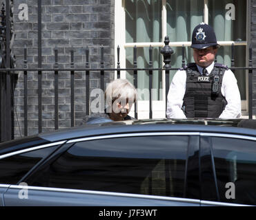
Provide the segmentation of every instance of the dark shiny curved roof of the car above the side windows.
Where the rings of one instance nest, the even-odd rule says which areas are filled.
[[[39,133],[0,143],[0,155],[12,151],[32,148],[42,144],[54,144],[64,140],[81,137],[145,132],[197,132],[226,133],[231,135],[248,135],[256,137],[256,120],[219,120],[219,119],[148,119],[126,120],[121,122],[104,122],[88,124],[70,129],[59,129],[51,133]]]

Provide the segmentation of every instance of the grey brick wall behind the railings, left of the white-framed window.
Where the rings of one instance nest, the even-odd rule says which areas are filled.
[[[19,5],[28,5],[28,20],[20,20]],[[75,51],[75,68],[85,67],[86,47],[90,48],[90,67],[100,65],[100,46],[104,46],[104,63],[114,67],[114,0],[43,0],[42,67],[52,68],[55,47],[59,67],[70,67],[70,50]],[[28,68],[37,67],[37,0],[14,1],[13,51],[17,67],[23,67],[23,47],[28,47]],[[114,74],[105,74],[106,82]],[[86,111],[85,72],[75,72],[75,125],[81,124]],[[54,130],[54,72],[43,72],[43,131]],[[99,87],[99,73],[90,74],[90,88]],[[28,135],[38,132],[37,72],[28,72]],[[23,135],[23,74],[19,74],[14,91],[14,134]],[[17,120],[18,118],[18,120]],[[70,73],[59,73],[59,128],[70,126]]]

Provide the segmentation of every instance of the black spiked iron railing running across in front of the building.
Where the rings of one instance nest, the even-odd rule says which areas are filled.
[[[100,80],[100,89],[104,90],[105,84],[106,82],[104,82],[104,74],[105,72],[117,72],[117,77],[120,77],[120,72],[121,71],[132,71],[134,74],[134,85],[135,87],[137,87],[137,76],[138,76],[138,72],[139,71],[146,71],[148,72],[149,75],[149,91],[151,91],[152,89],[152,72],[154,70],[158,70],[158,71],[165,71],[166,74],[166,100],[167,100],[167,94],[168,94],[168,89],[169,89],[169,80],[170,80],[170,71],[171,70],[177,70],[179,68],[172,68],[170,67],[170,58],[171,58],[171,54],[173,53],[173,51],[170,49],[170,47],[168,46],[168,39],[166,38],[165,41],[166,45],[165,47],[163,47],[163,49],[161,50],[161,53],[165,54],[164,56],[164,67],[163,68],[153,68],[152,67],[152,47],[149,47],[149,54],[150,54],[150,59],[149,59],[149,67],[148,68],[137,68],[137,48],[134,47],[134,59],[133,59],[133,67],[132,68],[126,68],[126,69],[121,69],[120,68],[120,63],[119,63],[119,50],[120,48],[117,47],[117,68],[106,68],[104,65],[104,47],[101,47],[101,61],[100,61],[100,67],[99,68],[90,68],[90,54],[89,54],[89,48],[86,48],[86,63],[85,63],[85,67],[84,68],[74,68],[74,50],[70,50],[70,68],[64,68],[61,69],[59,68],[59,63],[58,63],[58,49],[55,48],[55,65],[53,69],[44,69],[44,68],[33,68],[33,69],[28,69],[28,61],[27,61],[27,47],[24,47],[24,60],[23,60],[23,68],[5,68],[5,69],[0,69],[1,75],[3,74],[8,74],[9,72],[19,72],[19,74],[23,74],[23,85],[24,85],[24,94],[23,94],[23,114],[24,114],[24,135],[28,135],[28,72],[37,72],[38,75],[38,132],[41,132],[42,129],[42,80],[41,77],[44,74],[44,72],[54,72],[55,73],[55,78],[54,78],[54,89],[55,89],[55,129],[59,129],[59,74],[61,74],[61,72],[70,72],[70,111],[71,111],[71,123],[70,126],[75,126],[75,72],[83,72],[84,74],[86,74],[86,115],[90,115],[90,105],[88,103],[90,103],[90,84],[89,84],[89,80],[90,80],[90,73],[91,72],[99,72],[100,76],[99,76],[99,80]],[[184,50],[182,50],[184,53]],[[233,69],[233,71],[235,71],[235,69],[248,69],[249,72],[249,118],[252,118],[252,73],[253,73],[253,69],[256,69],[256,67],[252,67],[252,61],[251,61],[251,48],[250,48],[250,62],[249,62],[249,67],[234,67],[235,65],[235,61],[234,59],[232,59],[232,67],[230,67],[230,69]],[[167,54],[168,52],[168,54]],[[232,52],[234,52],[234,50],[232,50]],[[233,54],[232,54],[233,57]],[[184,66],[185,61],[184,61],[184,54],[183,54],[183,60],[181,62],[181,66]],[[9,83],[8,81],[6,81],[6,83]],[[9,85],[10,87],[10,85]],[[7,88],[7,87],[6,87]],[[9,89],[10,90],[10,89]],[[151,94],[151,92],[150,92]],[[6,98],[10,98],[13,99],[14,97],[11,97],[11,94],[9,94]],[[150,96],[149,99],[149,117],[148,118],[152,118],[152,96]],[[135,103],[135,118],[137,118],[137,103]],[[13,127],[12,127],[13,129]]]

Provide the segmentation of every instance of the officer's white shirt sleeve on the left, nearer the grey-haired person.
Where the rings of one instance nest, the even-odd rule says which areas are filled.
[[[167,118],[186,118],[181,110],[186,91],[186,71],[178,70],[173,76],[167,96]]]

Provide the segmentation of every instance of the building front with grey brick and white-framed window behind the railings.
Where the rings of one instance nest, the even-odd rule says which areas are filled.
[[[28,50],[28,68],[38,64],[38,8],[37,0],[15,0],[14,45],[17,67],[24,64],[24,45]],[[120,48],[120,67],[133,67],[133,48],[137,47],[137,67],[150,64],[149,47],[152,46],[152,66],[161,68],[160,50],[164,37],[169,36],[173,48],[172,67],[181,67],[182,46],[186,63],[193,62],[190,36],[195,25],[205,22],[215,29],[221,45],[217,62],[229,67],[249,64],[248,50],[253,47],[253,65],[256,63],[256,1],[255,0],[42,0],[41,1],[42,67],[70,67],[70,50],[74,50],[74,66],[86,65],[86,47],[90,50],[90,67],[101,66],[104,47],[104,67],[117,67],[117,46]],[[232,47],[234,54],[232,57]],[[165,72],[152,74],[152,117],[165,118]],[[175,71],[171,71],[173,76]],[[253,71],[255,75],[255,71]],[[248,115],[248,70],[236,69],[235,76],[242,96],[242,112]],[[28,73],[28,135],[38,132],[38,78],[37,72]],[[53,131],[54,126],[54,72],[42,74],[42,131]],[[106,72],[106,83],[117,77],[115,71]],[[98,88],[99,72],[90,73],[90,89]],[[121,78],[134,80],[132,71],[121,71]],[[170,80],[172,77],[170,77]],[[138,72],[138,118],[148,118],[148,83],[146,71]],[[169,82],[170,83],[170,82]],[[75,72],[75,125],[82,123],[86,109],[86,78],[84,72]],[[146,90],[145,90],[146,89]],[[91,91],[91,90],[90,90]],[[20,73],[14,89],[14,134],[23,135],[23,74]],[[134,109],[132,109],[132,114]],[[253,76],[253,115],[256,115],[256,76]],[[70,126],[70,74],[59,73],[59,127]]]

